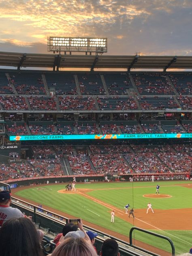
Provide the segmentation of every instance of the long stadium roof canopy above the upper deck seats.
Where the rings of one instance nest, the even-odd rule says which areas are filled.
[[[0,66],[36,68],[192,69],[192,56],[62,55],[0,52]]]

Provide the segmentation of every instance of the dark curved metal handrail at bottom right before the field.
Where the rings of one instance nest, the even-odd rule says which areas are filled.
[[[144,232],[144,233],[147,233],[147,234],[149,234],[149,235],[153,235],[153,236],[155,236],[155,237],[160,237],[160,238],[162,238],[162,239],[167,240],[167,241],[171,244],[172,256],[175,256],[175,246],[174,246],[174,244],[173,244],[173,241],[172,241],[169,237],[165,237],[165,236],[163,236],[163,235],[159,235],[159,234],[157,234],[157,233],[154,233],[154,232],[145,230],[145,229],[143,229],[143,228],[132,227],[132,228],[130,229],[130,232],[129,232],[129,243],[130,243],[130,246],[134,247],[135,249],[140,249],[140,250],[141,250],[140,247],[137,247],[136,245],[133,245],[133,244],[132,244],[132,233],[133,233],[133,230],[139,230],[139,231]],[[142,249],[142,251],[148,252],[148,251],[145,250],[145,249]],[[153,254],[153,253],[152,253],[151,255],[157,256],[158,254]]]

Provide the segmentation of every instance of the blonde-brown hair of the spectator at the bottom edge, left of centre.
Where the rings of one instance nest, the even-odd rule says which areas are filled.
[[[55,248],[51,256],[97,256],[91,243],[84,238],[68,238]]]

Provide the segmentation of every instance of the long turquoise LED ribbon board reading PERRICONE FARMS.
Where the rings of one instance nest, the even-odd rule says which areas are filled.
[[[191,138],[192,133],[148,133],[148,134],[83,134],[83,135],[23,135],[10,136],[10,141],[78,140],[78,139],[164,139]]]

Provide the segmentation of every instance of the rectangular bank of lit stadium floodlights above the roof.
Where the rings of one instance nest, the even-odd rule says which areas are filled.
[[[48,36],[47,51],[64,52],[64,54],[67,52],[69,54],[72,52],[102,54],[107,52],[107,38]]]

